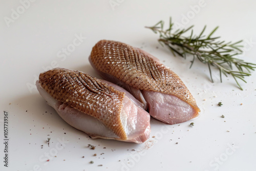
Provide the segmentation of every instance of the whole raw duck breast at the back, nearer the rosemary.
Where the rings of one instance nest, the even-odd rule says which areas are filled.
[[[199,115],[196,100],[179,76],[151,54],[122,42],[100,40],[89,60],[101,77],[129,91],[154,118],[175,124]]]

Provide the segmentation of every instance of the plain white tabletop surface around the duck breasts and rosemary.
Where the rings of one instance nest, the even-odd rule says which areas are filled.
[[[38,0],[24,11],[19,1],[0,2],[0,170],[255,170],[255,72],[246,78],[247,84],[241,82],[244,91],[231,77],[220,83],[216,71],[211,83],[206,66],[195,63],[188,69],[191,58],[174,57],[158,44],[158,35],[144,28],[159,20],[167,24],[169,16],[185,28],[195,25],[197,34],[204,25],[206,33],[220,26],[215,35],[245,40],[240,57],[255,62],[255,1],[205,0],[195,9],[200,1],[113,0],[118,5],[112,8],[111,1]],[[17,8],[23,13],[7,24],[6,17]],[[190,19],[185,20],[187,15]],[[76,35],[86,38],[63,55],[62,49],[71,46]],[[151,138],[143,144],[93,140],[69,126],[30,86],[51,65],[98,77],[88,56],[101,39],[122,41],[158,57],[194,95],[200,116],[176,125],[152,119]],[[223,106],[217,106],[219,101]],[[8,168],[3,166],[3,111],[9,112]],[[58,139],[67,142],[60,146]]]

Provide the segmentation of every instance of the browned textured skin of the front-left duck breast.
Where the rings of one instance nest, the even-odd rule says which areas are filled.
[[[62,69],[41,73],[39,83],[54,99],[69,104],[84,115],[97,118],[121,140],[127,139],[120,120],[125,93],[86,73]]]

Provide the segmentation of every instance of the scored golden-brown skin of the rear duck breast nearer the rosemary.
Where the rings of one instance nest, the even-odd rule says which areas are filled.
[[[145,51],[118,41],[100,40],[90,58],[100,72],[136,89],[174,95],[193,107],[194,117],[199,115],[196,100],[179,76]]]

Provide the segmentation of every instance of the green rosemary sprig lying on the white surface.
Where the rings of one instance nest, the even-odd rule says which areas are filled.
[[[192,67],[196,58],[199,59],[202,63],[205,63],[210,72],[210,79],[212,82],[212,72],[211,67],[216,67],[220,72],[220,80],[222,82],[222,74],[227,77],[227,74],[230,74],[234,80],[236,80],[239,88],[241,90],[238,79],[246,82],[244,80],[245,76],[250,76],[250,70],[254,71],[256,68],[256,64],[245,62],[242,59],[234,58],[233,56],[242,54],[242,45],[240,43],[242,40],[237,42],[225,42],[219,41],[220,37],[212,37],[212,34],[216,32],[218,27],[212,30],[208,36],[203,35],[206,26],[203,28],[199,36],[194,35],[193,27],[190,26],[187,29],[178,29],[175,32],[172,32],[174,23],[172,23],[172,19],[170,18],[169,28],[164,30],[164,22],[161,20],[153,27],[146,27],[151,29],[155,33],[160,34],[160,38],[158,41],[161,45],[165,45],[169,48],[169,50],[175,55],[178,54],[181,57],[186,58],[187,54],[193,56],[191,60],[190,68]],[[184,33],[191,30],[190,36],[184,36]],[[233,70],[233,66],[237,68],[237,70]],[[247,72],[244,72],[246,70]]]

